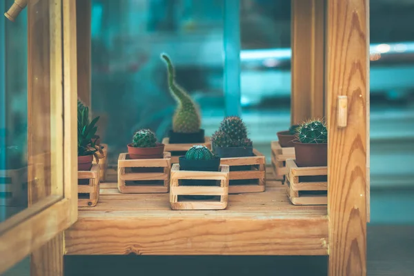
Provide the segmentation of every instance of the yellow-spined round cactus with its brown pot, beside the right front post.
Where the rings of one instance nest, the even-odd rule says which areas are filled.
[[[296,164],[299,167],[328,164],[328,130],[322,120],[306,121],[299,126],[295,145]]]

